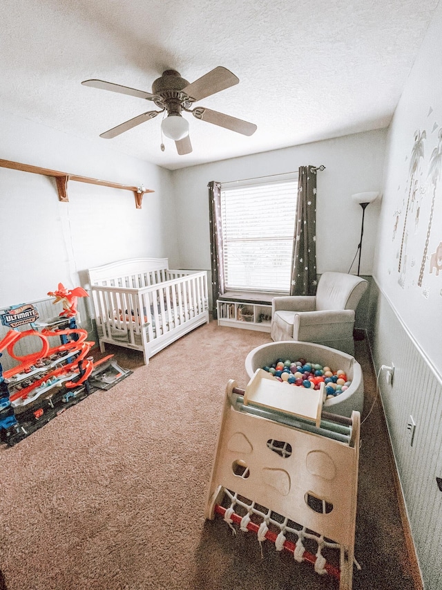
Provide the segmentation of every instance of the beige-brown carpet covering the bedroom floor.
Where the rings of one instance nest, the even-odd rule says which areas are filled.
[[[131,376],[1,447],[0,589],[338,589],[271,542],[204,520],[224,389],[246,385],[244,359],[265,342],[211,322],[147,366],[109,347]],[[376,391],[366,340],[356,359],[364,418]],[[361,441],[353,587],[414,590],[378,400]]]

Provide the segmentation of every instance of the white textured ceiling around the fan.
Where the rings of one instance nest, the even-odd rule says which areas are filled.
[[[169,169],[378,129],[392,118],[437,4],[2,0],[0,106]],[[166,138],[160,150],[162,116],[99,138],[155,105],[82,80],[151,92],[166,69],[193,82],[216,66],[240,83],[196,105],[255,123],[253,136],[186,115],[186,156]]]

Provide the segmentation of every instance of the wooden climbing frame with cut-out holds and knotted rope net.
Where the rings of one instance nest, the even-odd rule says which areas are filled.
[[[351,590],[361,415],[321,412],[322,392],[298,389],[262,369],[245,391],[229,381],[205,517],[222,515]]]

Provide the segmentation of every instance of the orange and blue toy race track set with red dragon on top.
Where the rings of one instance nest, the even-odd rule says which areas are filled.
[[[59,291],[48,293],[55,295],[54,303],[66,293],[75,293],[60,316],[48,322],[36,324],[39,313],[32,304],[8,308],[0,314],[3,326],[10,328],[0,341],[0,357],[6,350],[18,362],[7,371],[0,363],[1,443],[15,445],[97,389],[110,389],[133,372],[119,367],[113,355],[95,362],[89,356],[95,342],[86,340],[87,331],[77,327],[75,305],[77,296],[87,293],[78,289],[66,291],[59,284]],[[31,329],[19,331],[26,324]],[[60,344],[51,347],[52,337],[59,338]],[[39,340],[40,350],[17,355],[16,345],[27,339],[32,344]]]

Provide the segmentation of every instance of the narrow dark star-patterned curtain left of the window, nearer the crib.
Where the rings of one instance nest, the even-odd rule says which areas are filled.
[[[216,300],[224,294],[224,259],[222,252],[221,183],[211,181],[209,187],[210,255],[212,270],[212,313],[218,318]]]

